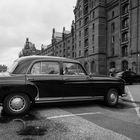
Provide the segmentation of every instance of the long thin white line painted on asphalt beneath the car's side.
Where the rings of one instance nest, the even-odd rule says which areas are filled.
[[[103,114],[103,113],[101,113],[101,112],[89,112],[89,113],[80,113],[80,114],[67,114],[67,115],[47,117],[47,119],[57,119],[57,118],[84,116],[84,115],[95,115],[95,114]]]

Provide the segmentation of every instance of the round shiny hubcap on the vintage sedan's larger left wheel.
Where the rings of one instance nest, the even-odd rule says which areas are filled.
[[[9,102],[9,107],[11,110],[19,112],[24,109],[25,107],[25,100],[21,96],[15,96],[11,98]]]

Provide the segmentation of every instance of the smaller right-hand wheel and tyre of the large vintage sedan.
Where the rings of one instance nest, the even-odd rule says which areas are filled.
[[[109,106],[115,106],[118,103],[118,91],[114,88],[108,90],[107,95],[105,96],[105,102]]]

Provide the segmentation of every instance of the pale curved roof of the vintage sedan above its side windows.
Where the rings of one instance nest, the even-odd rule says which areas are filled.
[[[63,61],[63,62],[74,62],[74,63],[79,63],[77,60],[73,60],[70,58],[66,57],[57,57],[57,56],[40,56],[40,55],[32,55],[32,56],[24,56],[18,58],[16,61],[21,62],[21,61],[35,61],[35,60],[53,60],[53,61]]]

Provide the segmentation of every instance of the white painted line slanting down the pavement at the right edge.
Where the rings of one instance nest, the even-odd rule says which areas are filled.
[[[132,96],[132,94],[131,94],[129,88],[128,88],[128,87],[126,87],[126,88],[127,88],[128,95],[130,96],[130,100],[132,101],[132,104],[133,104],[133,106],[135,107],[137,116],[138,116],[138,118],[140,119],[140,107],[138,107],[137,104],[135,103],[135,100],[134,100],[134,98],[133,98],[133,96]]]

